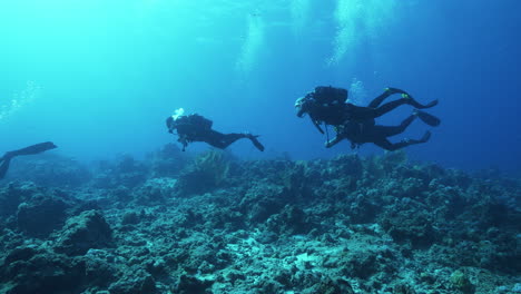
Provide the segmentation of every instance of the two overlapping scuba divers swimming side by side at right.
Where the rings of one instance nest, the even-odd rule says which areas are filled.
[[[383,100],[393,94],[401,94],[402,98],[381,106]],[[315,91],[298,98],[295,102],[297,116],[309,115],[315,127],[324,134],[321,124],[324,124],[327,131],[327,125],[335,127],[336,137],[331,139],[327,134],[326,148],[330,148],[343,139],[351,140],[351,147],[360,147],[364,143],[374,143],[386,149],[396,150],[413,144],[425,143],[430,139],[431,133],[426,131],[421,139],[405,139],[392,144],[386,137],[403,133],[415,118],[420,118],[430,126],[439,126],[440,119],[422,110],[415,109],[413,115],[402,121],[400,126],[380,126],[375,124],[375,118],[380,117],[394,108],[407,104],[416,108],[430,108],[438,105],[433,100],[427,105],[417,102],[411,95],[396,88],[386,88],[385,91],[373,99],[367,107],[355,106],[345,102],[347,100],[347,90],[334,87],[316,87]]]

